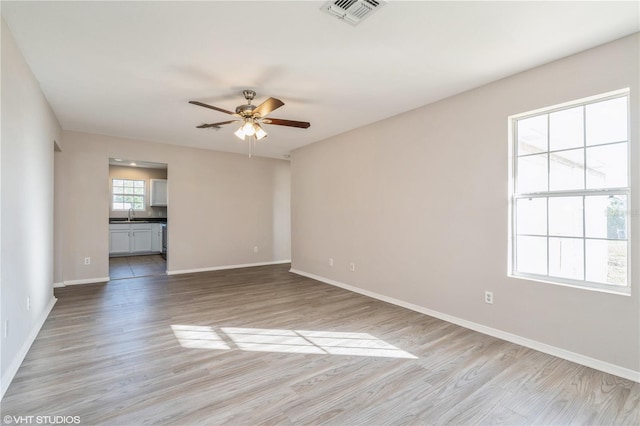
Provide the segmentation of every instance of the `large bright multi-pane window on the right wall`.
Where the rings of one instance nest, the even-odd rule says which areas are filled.
[[[511,117],[511,274],[628,291],[629,93]]]

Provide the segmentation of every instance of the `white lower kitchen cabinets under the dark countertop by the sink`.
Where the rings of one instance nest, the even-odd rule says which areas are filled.
[[[159,253],[160,224],[126,223],[109,225],[109,254]],[[155,244],[154,244],[155,242]]]

